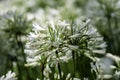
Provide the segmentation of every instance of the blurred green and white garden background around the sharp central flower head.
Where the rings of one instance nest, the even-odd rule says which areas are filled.
[[[99,51],[100,55],[97,56],[104,64],[102,65],[106,71],[104,73],[114,75],[115,69],[109,67],[113,65],[118,71],[120,70],[120,0],[0,0],[0,76],[12,70],[17,74],[18,80],[41,79],[39,66],[25,66],[26,37],[32,31],[33,23],[41,22],[44,25],[51,19],[75,21],[79,18],[91,19],[91,24],[103,37],[107,45],[106,48],[103,47],[106,52],[102,54],[104,52]],[[106,57],[107,53],[115,56]],[[71,62],[64,63],[63,71],[66,73],[70,71],[72,67],[66,70],[65,65],[71,66],[71,64]],[[86,73],[87,71],[88,67]],[[83,76],[88,77],[87,75]],[[118,78],[110,77],[107,80],[119,80],[119,78],[120,75]]]

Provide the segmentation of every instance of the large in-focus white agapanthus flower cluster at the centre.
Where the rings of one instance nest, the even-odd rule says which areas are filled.
[[[50,20],[44,26],[33,24],[26,43],[26,66],[44,67],[43,74],[49,77],[50,68],[71,60],[73,52],[95,61],[93,55],[105,54],[105,47],[103,38],[90,25],[89,19],[72,23]]]

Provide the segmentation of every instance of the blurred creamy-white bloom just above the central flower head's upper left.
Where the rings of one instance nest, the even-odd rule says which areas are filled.
[[[54,8],[47,8],[47,9],[39,8],[34,13],[27,13],[27,17],[28,20],[34,19],[37,22],[41,22],[42,25],[44,25],[44,23],[49,20],[61,19],[60,11]]]

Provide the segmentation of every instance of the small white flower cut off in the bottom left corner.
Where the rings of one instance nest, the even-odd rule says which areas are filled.
[[[8,71],[6,75],[3,75],[0,80],[17,80],[16,74],[12,71]]]

